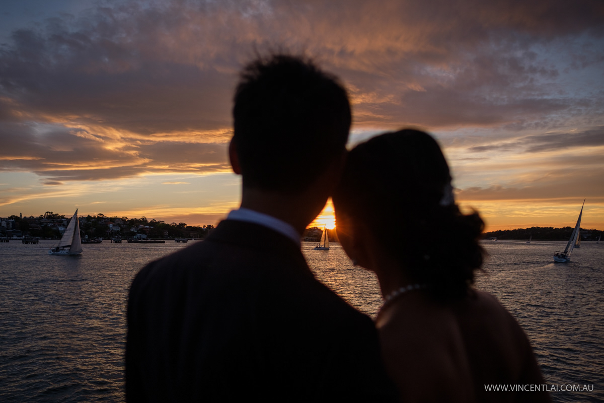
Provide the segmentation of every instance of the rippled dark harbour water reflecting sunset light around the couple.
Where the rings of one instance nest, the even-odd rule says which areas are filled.
[[[203,241],[193,241],[203,242]],[[604,242],[583,242],[554,263],[565,242],[484,242],[477,288],[509,309],[532,341],[556,402],[604,401]],[[189,243],[83,245],[48,256],[51,241],[0,243],[0,401],[123,402],[126,297],[147,262]],[[337,243],[303,253],[316,277],[373,316],[381,305],[371,272]],[[593,390],[563,391],[561,385]],[[577,386],[574,386],[577,388]]]

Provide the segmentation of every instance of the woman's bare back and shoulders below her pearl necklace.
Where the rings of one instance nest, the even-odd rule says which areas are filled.
[[[409,295],[378,319],[384,362],[410,401],[472,401],[484,384],[542,381],[521,326],[488,292],[448,302]]]

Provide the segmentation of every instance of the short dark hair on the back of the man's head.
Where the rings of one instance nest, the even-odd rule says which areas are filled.
[[[305,189],[344,152],[352,119],[338,79],[287,54],[243,68],[233,118],[243,186],[280,192]]]

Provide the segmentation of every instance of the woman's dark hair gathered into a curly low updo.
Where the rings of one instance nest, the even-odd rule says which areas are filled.
[[[483,262],[484,223],[455,204],[449,166],[430,135],[404,129],[356,146],[333,203],[367,224],[411,281],[437,297],[466,295]]]

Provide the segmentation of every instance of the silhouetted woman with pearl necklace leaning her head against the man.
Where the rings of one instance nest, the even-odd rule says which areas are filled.
[[[483,221],[455,204],[431,136],[406,129],[356,146],[333,203],[342,247],[379,280],[376,327],[401,401],[550,401],[519,324],[495,297],[472,288]],[[493,384],[541,385],[541,392],[487,391]]]

